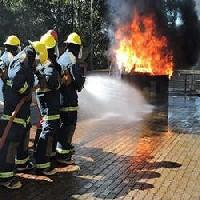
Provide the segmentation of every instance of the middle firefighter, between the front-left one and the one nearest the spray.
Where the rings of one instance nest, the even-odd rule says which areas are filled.
[[[39,81],[36,99],[42,117],[42,130],[36,145],[35,159],[37,172],[53,175],[56,170],[50,162],[50,157],[55,153],[56,133],[60,125],[60,79],[56,64],[51,59],[54,56],[56,40],[52,35],[45,34],[40,42],[46,46],[50,57],[36,72]]]

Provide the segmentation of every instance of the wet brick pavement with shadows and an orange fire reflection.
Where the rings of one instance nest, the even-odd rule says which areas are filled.
[[[169,126],[163,110],[139,123],[81,119],[74,138],[81,170],[18,174],[24,187],[0,188],[0,200],[200,200],[199,105],[198,97],[170,97]]]

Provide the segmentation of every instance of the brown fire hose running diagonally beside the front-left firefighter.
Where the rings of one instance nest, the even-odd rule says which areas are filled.
[[[17,115],[17,113],[19,112],[19,110],[21,109],[22,105],[25,103],[25,101],[27,101],[30,98],[30,95],[23,97],[20,102],[17,104],[17,106],[15,107],[14,112],[12,113],[12,116],[10,117],[2,136],[0,137],[0,149],[3,148],[5,141],[8,137],[8,133],[10,128],[12,127],[13,121]]]

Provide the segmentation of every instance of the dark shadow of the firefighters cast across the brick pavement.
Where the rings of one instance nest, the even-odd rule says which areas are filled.
[[[82,195],[118,198],[131,190],[154,188],[147,180],[160,178],[161,174],[153,170],[181,167],[171,161],[151,162],[151,156],[120,156],[98,148],[79,148],[75,158],[81,171],[72,173],[69,167],[63,167],[59,168],[60,173],[49,178],[19,174],[23,188],[18,191],[1,188],[0,199],[70,200],[82,199]]]

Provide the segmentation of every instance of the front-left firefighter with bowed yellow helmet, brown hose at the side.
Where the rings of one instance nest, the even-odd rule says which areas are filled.
[[[35,64],[47,59],[44,57],[44,50],[40,48],[41,45],[30,45],[24,48],[14,57],[8,68],[7,85],[9,88],[5,94],[4,112],[0,124],[1,138],[17,106],[24,100],[8,131],[5,143],[0,148],[0,185],[9,189],[18,189],[22,186],[15,177],[15,158],[21,161],[29,160],[27,152],[18,151],[18,147],[23,143],[27,134],[27,118],[30,115]],[[36,57],[36,53],[39,57]]]

